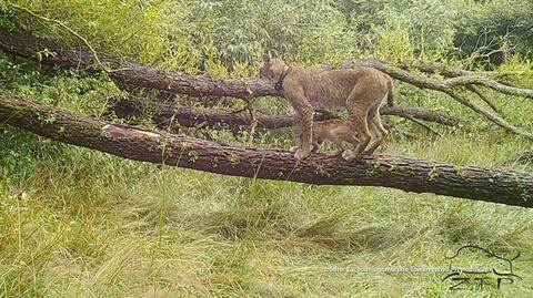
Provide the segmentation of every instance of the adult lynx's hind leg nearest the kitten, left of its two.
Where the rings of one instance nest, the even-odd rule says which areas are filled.
[[[353,102],[353,101],[352,101]],[[346,150],[342,153],[342,157],[349,162],[356,160],[370,143],[371,135],[368,124],[368,110],[363,106],[352,106],[349,109],[350,122],[354,130],[353,137],[358,137],[359,142],[354,150]]]

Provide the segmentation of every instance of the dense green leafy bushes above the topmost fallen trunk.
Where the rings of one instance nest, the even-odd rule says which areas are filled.
[[[393,59],[469,58],[509,62],[530,56],[533,4],[474,1],[18,1],[62,21],[115,55],[144,63],[227,75],[253,73],[271,51],[316,64],[361,55]],[[62,41],[58,25],[4,8],[3,27]],[[505,60],[503,59],[505,58]]]

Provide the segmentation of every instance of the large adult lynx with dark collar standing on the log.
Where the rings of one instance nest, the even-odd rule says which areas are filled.
[[[391,78],[372,68],[358,66],[343,70],[308,70],[285,64],[281,59],[265,59],[260,76],[275,80],[275,89],[282,91],[296,112],[295,126],[301,134],[294,156],[305,158],[312,151],[313,114],[315,110],[346,109],[353,136],[359,143],[346,150],[342,157],[356,160],[369,146],[373,153],[389,132],[383,127],[380,106],[386,99],[393,103]]]

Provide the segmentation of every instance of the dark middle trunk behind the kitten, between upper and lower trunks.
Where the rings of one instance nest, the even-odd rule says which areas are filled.
[[[219,124],[225,124],[233,129],[240,126],[250,126],[251,119],[248,114],[224,112],[213,109],[192,109],[169,103],[147,102],[144,99],[130,96],[128,99],[118,100],[110,110],[117,116],[128,119],[131,116],[139,116],[143,114],[145,106],[149,106],[152,122],[160,129],[170,129],[172,126],[192,127],[201,125],[202,127],[212,127]],[[382,106],[381,114],[395,115],[404,119],[418,119],[423,121],[436,122],[444,125],[454,126],[466,121],[450,116],[436,111],[430,111],[419,107],[402,107],[402,106]],[[315,121],[332,119],[333,115],[318,113],[314,116]],[[270,116],[257,115],[259,129],[282,129],[292,126],[294,116]]]

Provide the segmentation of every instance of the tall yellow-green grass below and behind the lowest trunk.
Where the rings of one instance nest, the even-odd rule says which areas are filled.
[[[391,140],[386,152],[512,166],[510,152],[524,146],[512,144],[494,146],[492,134],[453,135]],[[60,147],[61,158],[43,156],[32,173],[1,188],[0,297],[532,294],[530,209],[380,187],[227,177]],[[446,268],[445,257],[467,244],[507,257],[521,251],[514,269],[522,279],[500,290],[491,281],[452,291],[442,273],[346,273]],[[469,253],[461,265],[493,261]]]

